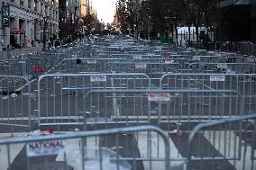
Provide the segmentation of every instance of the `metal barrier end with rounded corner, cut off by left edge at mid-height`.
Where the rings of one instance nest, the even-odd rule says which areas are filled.
[[[31,85],[23,76],[0,75],[0,125],[3,129],[31,128]],[[17,129],[16,129],[17,130]]]

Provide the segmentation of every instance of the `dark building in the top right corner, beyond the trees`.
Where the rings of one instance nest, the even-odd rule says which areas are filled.
[[[256,42],[256,0],[220,1],[221,40]]]

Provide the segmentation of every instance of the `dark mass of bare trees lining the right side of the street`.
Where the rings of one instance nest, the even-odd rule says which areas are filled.
[[[199,27],[203,24],[212,28],[217,21],[217,0],[119,0],[118,18],[123,30],[138,31],[139,25],[147,30],[149,20],[153,30],[157,32],[176,32],[178,40],[178,26],[196,27],[197,43],[199,42]],[[169,18],[169,20],[166,20]],[[136,26],[136,28],[134,28]],[[173,29],[174,28],[174,29]],[[207,29],[208,30],[208,29]]]

